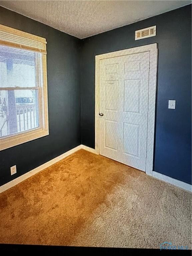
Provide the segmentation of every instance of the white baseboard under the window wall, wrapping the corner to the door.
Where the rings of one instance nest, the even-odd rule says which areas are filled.
[[[79,149],[84,149],[84,150],[87,150],[87,151],[89,151],[89,152],[92,152],[92,153],[97,154],[96,151],[95,151],[95,149],[89,148],[89,147],[84,146],[84,145],[79,145],[79,146],[77,146],[77,147],[75,147],[75,148],[73,148],[73,149],[71,149],[71,150],[69,150],[69,151],[63,153],[62,155],[57,156],[57,157],[53,158],[52,160],[50,160],[50,161],[48,161],[48,162],[46,162],[46,163],[44,163],[44,164],[38,166],[37,168],[35,168],[35,169],[33,169],[33,170],[31,170],[31,171],[29,171],[29,172],[27,172],[27,173],[25,173],[25,174],[19,176],[18,178],[14,179],[14,180],[11,180],[10,182],[8,182],[8,183],[6,183],[6,184],[0,186],[0,193],[2,193],[3,191],[5,191],[5,190],[7,190],[7,189],[9,189],[9,188],[11,188],[11,187],[17,185],[18,183],[20,183],[20,182],[22,182],[22,181],[28,179],[29,177],[31,177],[31,176],[33,176],[34,174],[36,174],[36,173],[38,173],[38,172],[44,170],[45,168],[47,168],[47,167],[49,167],[49,166],[51,166],[51,165],[57,163],[58,161],[64,159],[65,157],[67,157],[67,156],[69,156],[69,155],[75,153],[75,152],[78,151]]]

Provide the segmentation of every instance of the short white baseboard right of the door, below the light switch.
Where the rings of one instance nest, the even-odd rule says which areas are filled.
[[[172,185],[175,185],[175,186],[185,189],[187,191],[190,191],[190,192],[192,191],[192,185],[185,183],[183,181],[180,181],[180,180],[176,180],[176,179],[166,176],[164,174],[153,171],[152,177],[157,178],[162,181],[165,181],[165,182],[168,182]]]

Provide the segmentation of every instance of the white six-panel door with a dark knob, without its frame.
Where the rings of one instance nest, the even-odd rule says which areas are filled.
[[[145,171],[149,52],[100,61],[100,154]],[[102,114],[103,113],[103,116]]]

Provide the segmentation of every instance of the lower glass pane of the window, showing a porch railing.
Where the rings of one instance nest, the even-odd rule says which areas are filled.
[[[0,137],[39,127],[38,90],[0,91]]]

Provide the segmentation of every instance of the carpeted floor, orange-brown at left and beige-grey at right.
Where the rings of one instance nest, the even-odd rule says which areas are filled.
[[[0,194],[0,243],[191,248],[191,193],[79,150]]]

